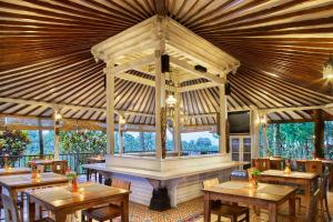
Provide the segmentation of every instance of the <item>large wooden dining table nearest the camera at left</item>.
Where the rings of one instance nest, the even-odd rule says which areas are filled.
[[[67,215],[75,211],[120,202],[123,208],[122,221],[129,222],[129,191],[92,182],[80,183],[80,188],[83,188],[84,191],[73,193],[65,185],[26,191],[29,203],[29,221],[34,221],[36,204],[52,211],[57,222],[64,222]]]

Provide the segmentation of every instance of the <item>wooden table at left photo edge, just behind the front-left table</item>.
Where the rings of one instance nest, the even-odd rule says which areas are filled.
[[[17,200],[19,191],[26,189],[58,185],[68,183],[68,179],[64,175],[56,173],[41,173],[39,179],[31,179],[31,174],[17,174],[17,175],[3,175],[0,176],[0,185],[8,190],[11,198]]]

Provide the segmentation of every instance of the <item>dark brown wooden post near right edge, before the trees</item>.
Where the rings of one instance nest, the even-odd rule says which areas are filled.
[[[324,113],[315,110],[314,118],[314,158],[324,158]]]

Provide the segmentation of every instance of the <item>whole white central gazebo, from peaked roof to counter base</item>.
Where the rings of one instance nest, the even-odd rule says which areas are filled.
[[[107,63],[104,69],[107,87],[107,167],[97,169],[105,176],[125,176],[132,182],[132,201],[151,204],[163,202],[152,195],[168,189],[171,205],[201,195],[204,178],[219,175],[226,180],[230,171],[242,163],[231,161],[226,153],[228,118],[225,84],[226,75],[235,72],[240,62],[196,36],[169,17],[154,16],[103,42],[92,47],[95,60]],[[135,72],[145,73],[142,78]],[[154,87],[155,157],[130,157],[122,153],[121,131],[119,154],[114,152],[115,121],[118,130],[127,115],[137,114],[131,110],[114,110],[114,79],[124,79]],[[183,85],[186,81],[198,81]],[[205,88],[219,88],[219,111],[216,132],[219,153],[214,155],[180,157],[181,131],[186,122],[181,93]],[[176,157],[167,158],[167,127],[172,128]],[[189,194],[185,188],[196,189]],[[180,189],[181,188],[181,189]],[[161,191],[162,192],[162,191]],[[152,200],[151,200],[152,198]],[[165,201],[165,200],[164,200]],[[168,201],[167,201],[168,202]],[[168,205],[168,204],[167,204]],[[159,208],[159,206],[152,206]]]

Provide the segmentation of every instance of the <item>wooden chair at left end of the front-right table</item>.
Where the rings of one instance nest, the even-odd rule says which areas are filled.
[[[203,181],[203,188],[208,189],[210,186],[218,185],[219,183],[220,182],[218,178],[205,180]],[[229,218],[231,222],[238,222],[238,218],[241,215],[245,215],[245,216],[241,219],[240,222],[242,221],[250,222],[250,210],[249,208],[245,206],[228,205],[223,203],[212,204],[211,212],[218,215],[219,222],[221,221],[221,216]]]

